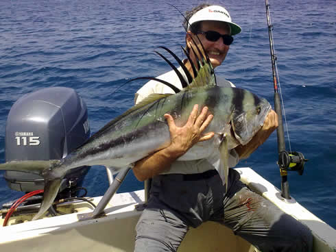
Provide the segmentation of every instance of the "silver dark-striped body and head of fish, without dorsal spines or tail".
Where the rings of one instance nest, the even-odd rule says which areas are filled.
[[[180,160],[204,158],[216,149],[226,132],[229,149],[246,144],[263,125],[270,105],[247,90],[218,86],[192,88],[149,103],[121,116],[107,129],[65,158],[61,166],[50,170],[51,177],[61,177],[70,168],[102,165],[123,168],[169,145],[169,128],[164,114],[171,114],[176,125],[187,123],[193,105],[207,106],[214,115],[206,132],[215,138],[195,144]],[[232,130],[231,130],[232,127]],[[228,136],[234,133],[234,136]]]

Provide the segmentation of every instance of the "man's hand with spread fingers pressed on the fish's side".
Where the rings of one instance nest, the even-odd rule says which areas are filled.
[[[204,129],[211,123],[211,120],[213,120],[212,114],[207,115],[208,108],[204,107],[199,116],[197,116],[197,111],[198,105],[196,104],[193,106],[188,121],[183,127],[177,127],[173,117],[170,114],[165,114],[171,139],[171,144],[167,148],[173,152],[174,156],[183,155],[196,142],[209,140],[215,135],[213,132],[202,134]]]

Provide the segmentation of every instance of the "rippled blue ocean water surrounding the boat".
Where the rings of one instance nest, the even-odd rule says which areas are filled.
[[[184,12],[200,1],[1,1],[0,162],[5,161],[6,118],[22,95],[51,86],[74,88],[88,106],[95,132],[133,105],[144,81],[116,88],[133,77],[169,71],[154,50],[164,45],[182,58],[184,30],[182,16],[167,3]],[[273,103],[265,1],[215,3],[226,6],[243,28],[217,75]],[[336,228],[336,2],[270,4],[291,149],[309,158],[304,175],[289,173],[291,196]],[[276,160],[274,133],[238,166],[251,166],[280,187]],[[104,168],[91,168],[84,186],[89,196],[103,194],[108,188]],[[119,192],[141,188],[130,173]],[[7,188],[1,171],[0,204],[21,195]]]

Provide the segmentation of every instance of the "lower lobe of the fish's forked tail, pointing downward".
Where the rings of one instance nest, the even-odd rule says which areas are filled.
[[[43,216],[49,207],[51,207],[51,204],[58,194],[58,190],[60,190],[61,181],[62,179],[45,180],[45,191],[43,192],[42,205],[32,220],[37,220]]]

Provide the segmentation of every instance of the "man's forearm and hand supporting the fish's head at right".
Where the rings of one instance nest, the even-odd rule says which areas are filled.
[[[253,151],[255,151],[261,144],[267,140],[270,134],[278,127],[278,114],[274,110],[271,110],[264,121],[263,127],[256,133],[256,135],[248,142],[248,144],[242,146],[239,145],[235,148],[240,158],[246,158]]]

